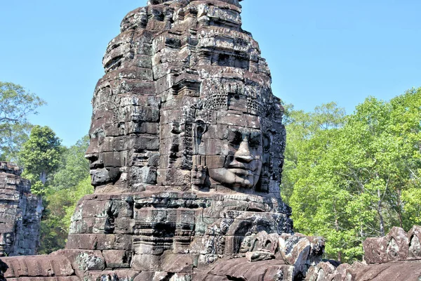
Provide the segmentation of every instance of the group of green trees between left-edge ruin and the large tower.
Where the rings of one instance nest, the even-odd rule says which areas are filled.
[[[65,246],[77,201],[93,192],[84,158],[89,138],[67,148],[48,126],[34,126],[27,115],[45,102],[22,86],[0,82],[0,160],[24,167],[32,193],[42,197],[40,254]]]

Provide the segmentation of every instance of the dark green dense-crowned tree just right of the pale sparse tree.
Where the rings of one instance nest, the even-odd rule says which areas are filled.
[[[58,169],[62,146],[60,138],[48,126],[34,126],[29,139],[22,145],[18,156],[24,167],[24,176],[31,181],[32,192],[46,192],[48,176]]]

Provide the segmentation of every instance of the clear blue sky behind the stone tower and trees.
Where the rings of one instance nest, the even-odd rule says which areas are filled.
[[[48,102],[31,116],[65,145],[88,132],[102,55],[123,16],[147,0],[13,0],[0,4],[0,81]],[[421,86],[420,0],[245,0],[243,29],[295,109],[335,101],[351,113],[367,96]]]

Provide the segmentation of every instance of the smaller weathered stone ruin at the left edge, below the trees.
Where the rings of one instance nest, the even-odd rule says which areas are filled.
[[[0,162],[0,256],[36,254],[40,202],[15,164]]]

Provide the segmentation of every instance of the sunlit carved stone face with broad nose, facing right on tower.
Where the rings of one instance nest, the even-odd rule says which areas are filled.
[[[211,183],[248,189],[258,183],[262,169],[259,129],[210,125],[210,130],[203,134],[203,150]]]

